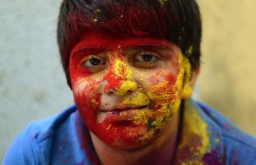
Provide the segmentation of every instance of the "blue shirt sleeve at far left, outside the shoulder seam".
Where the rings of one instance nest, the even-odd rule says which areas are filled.
[[[3,165],[9,164],[39,164],[37,155],[37,133],[31,127],[26,127],[9,146],[3,157]]]

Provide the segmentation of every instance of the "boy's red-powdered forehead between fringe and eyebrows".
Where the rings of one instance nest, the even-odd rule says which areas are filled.
[[[173,49],[173,44],[165,39],[152,36],[118,38],[99,31],[88,32],[72,49],[72,53],[83,49],[118,50],[140,46],[153,46],[163,49]]]

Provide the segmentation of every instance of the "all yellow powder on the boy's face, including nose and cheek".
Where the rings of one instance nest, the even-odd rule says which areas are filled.
[[[115,60],[113,69],[115,74],[122,78],[132,78],[131,69],[129,69],[126,64],[119,59]],[[190,96],[191,89],[188,84],[191,74],[190,69],[189,60],[183,57],[182,53],[180,53],[179,74],[177,75],[176,82],[173,86],[170,86],[169,82],[159,83],[151,86],[147,91],[147,95],[142,92],[133,94],[131,98],[125,98],[125,100],[120,104],[128,107],[129,105],[143,107],[150,104],[150,100],[152,100],[159,105],[159,108],[156,110],[143,108],[134,111],[134,123],[144,123],[150,127],[148,133],[140,137],[141,141],[154,138],[154,134],[157,130],[164,129],[166,123],[169,122],[170,116],[179,109],[181,99],[183,97]],[[166,74],[168,74],[168,72],[166,72]],[[135,82],[128,80],[123,81],[122,85],[117,90],[117,94],[121,96],[128,90],[135,91],[136,88],[137,84]],[[140,90],[143,90],[142,87],[140,88]]]

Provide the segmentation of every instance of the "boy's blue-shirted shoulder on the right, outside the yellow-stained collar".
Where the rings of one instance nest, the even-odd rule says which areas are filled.
[[[221,133],[223,156],[227,164],[253,164],[256,163],[256,139],[250,134],[240,130],[221,113],[208,105],[196,102],[200,109],[215,124],[215,129]]]

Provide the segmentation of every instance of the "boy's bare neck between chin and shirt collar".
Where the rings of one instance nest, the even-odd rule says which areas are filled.
[[[178,126],[179,113],[175,113],[161,135],[135,149],[115,148],[90,134],[101,164],[170,164],[176,149]]]

